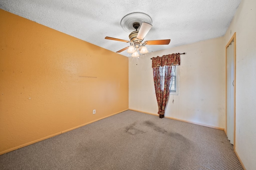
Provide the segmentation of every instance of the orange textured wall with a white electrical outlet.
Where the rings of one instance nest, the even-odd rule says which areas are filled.
[[[127,57],[0,10],[0,154],[126,109]]]

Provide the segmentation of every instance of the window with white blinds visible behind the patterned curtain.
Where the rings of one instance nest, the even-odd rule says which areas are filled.
[[[162,69],[160,69],[160,75],[162,80],[162,90],[164,90],[164,77],[165,77],[165,68],[167,66],[163,66]],[[170,94],[171,95],[178,95],[178,66],[171,66],[172,72],[171,72],[171,82],[170,82]]]

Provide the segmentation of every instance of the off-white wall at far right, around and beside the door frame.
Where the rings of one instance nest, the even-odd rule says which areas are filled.
[[[225,34],[236,32],[236,152],[247,170],[256,169],[256,1],[243,0]]]

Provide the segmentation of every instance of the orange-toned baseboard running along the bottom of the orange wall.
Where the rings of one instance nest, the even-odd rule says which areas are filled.
[[[82,125],[79,125],[79,126],[76,126],[76,127],[73,127],[73,128],[70,128],[70,129],[67,129],[67,130],[58,132],[58,133],[54,133],[54,134],[49,135],[49,136],[47,136],[47,137],[43,137],[43,138],[41,138],[41,139],[37,139],[37,140],[35,140],[35,141],[31,141],[31,142],[28,142],[28,143],[19,145],[19,146],[17,146],[17,147],[13,147],[13,148],[4,150],[4,151],[0,152],[0,155],[5,154],[5,153],[8,153],[8,152],[11,152],[11,151],[14,151],[14,150],[16,150],[16,149],[20,149],[20,148],[26,147],[26,146],[28,146],[28,145],[31,145],[31,144],[34,144],[34,143],[37,143],[37,142],[40,142],[40,141],[43,141],[43,140],[45,140],[45,139],[49,139],[49,138],[51,138],[51,137],[60,135],[60,134],[62,134],[62,133],[65,133],[65,132],[68,132],[68,131],[72,131],[72,130],[77,129],[77,128],[79,128],[79,127],[88,125],[88,124],[90,124],[90,123],[94,123],[94,122],[96,122],[96,121],[99,121],[99,120],[101,120],[101,119],[105,119],[105,118],[110,117],[110,116],[112,116],[112,115],[116,115],[116,114],[121,113],[121,112],[126,111],[126,110],[128,110],[128,109],[125,109],[125,110],[122,110],[122,111],[118,111],[118,112],[116,112],[116,113],[113,113],[113,114],[108,115],[108,116],[105,116],[105,117],[101,117],[101,118],[96,119],[96,120],[94,120],[94,121],[90,121],[90,122],[88,122],[88,123],[84,123],[84,124],[82,124]]]

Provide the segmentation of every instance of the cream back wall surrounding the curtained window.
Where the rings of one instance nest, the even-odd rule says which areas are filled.
[[[178,95],[169,96],[165,116],[225,128],[224,37],[130,58],[129,108],[157,115],[150,58],[183,52],[186,55],[180,55],[178,66]]]

